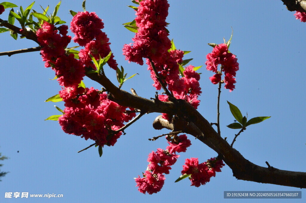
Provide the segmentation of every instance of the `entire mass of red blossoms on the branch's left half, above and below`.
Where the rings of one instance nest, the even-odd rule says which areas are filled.
[[[41,55],[43,61],[46,61],[45,67],[52,67],[59,84],[63,86],[59,95],[66,108],[64,115],[58,119],[63,131],[82,136],[85,140],[95,140],[99,146],[113,146],[122,134],[119,129],[124,126],[123,123],[136,114],[125,113],[127,107],[108,100],[106,92],[79,85],[85,76],[85,66],[94,67],[89,54],[99,59],[110,53],[109,39],[101,31],[103,27],[102,20],[95,13],[79,12],[73,17],[73,39],[85,45],[85,49],[79,53],[80,60],[75,59],[73,54],[66,54],[65,48],[71,40],[67,36],[68,26],[56,28],[44,22],[36,35],[42,46]],[[110,67],[116,69],[117,63],[113,57],[108,62]]]

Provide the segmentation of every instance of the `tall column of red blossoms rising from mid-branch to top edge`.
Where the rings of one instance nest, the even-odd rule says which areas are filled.
[[[125,55],[125,60],[140,65],[144,64],[143,58],[147,58],[146,63],[154,81],[153,86],[160,90],[161,85],[151,66],[152,61],[159,77],[168,86],[173,96],[186,100],[197,108],[200,103],[197,98],[202,93],[199,84],[200,75],[193,70],[193,66],[188,66],[183,77],[180,78],[178,63],[182,63],[184,52],[170,50],[171,41],[166,29],[168,8],[167,0],[143,0],[140,2],[135,18],[138,32],[132,39],[133,44],[124,45],[123,55]],[[168,101],[168,96],[159,95],[159,99]],[[163,114],[163,118],[170,119],[170,115]]]

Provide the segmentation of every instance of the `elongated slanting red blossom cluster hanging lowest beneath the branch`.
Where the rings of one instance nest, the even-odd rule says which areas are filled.
[[[187,139],[187,136],[173,136],[172,138],[169,136],[169,146],[166,150],[157,149],[156,152],[152,151],[152,153],[148,156],[148,168],[147,171],[144,172],[143,178],[136,178],[136,187],[138,187],[138,191],[141,193],[153,194],[157,193],[162,189],[162,186],[165,181],[165,174],[169,174],[169,170],[171,166],[177,161],[179,155],[176,154],[179,152],[185,152],[186,148],[191,145],[190,140]]]

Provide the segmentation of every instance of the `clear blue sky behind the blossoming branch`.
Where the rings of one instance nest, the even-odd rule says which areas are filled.
[[[31,1],[13,3],[25,8]],[[33,7],[48,4],[53,11],[58,1],[38,0]],[[221,133],[230,142],[238,130],[226,125],[234,118],[226,100],[248,112],[249,118],[272,116],[262,123],[251,125],[238,137],[234,147],[255,164],[284,170],[306,171],[305,164],[305,31],[306,24],[296,20],[280,0],[273,1],[208,1],[170,0],[167,22],[170,38],[178,49],[192,51],[185,59],[194,58],[191,64],[204,65],[212,48],[207,43],[222,43],[229,39],[234,29],[230,51],[237,55],[240,70],[237,72],[236,89],[222,89]],[[82,11],[82,0],[63,0],[59,16],[68,24],[72,19],[69,9]],[[132,42],[134,34],[122,24],[135,17],[126,5],[129,0],[92,1],[86,8],[103,19],[110,38],[111,49],[119,65],[132,75],[123,89],[134,88],[139,96],[150,98],[155,88],[146,66],[129,64],[124,60],[122,48]],[[50,13],[48,12],[48,13]],[[8,10],[0,18],[6,20]],[[37,46],[27,39],[15,41],[9,33],[0,35],[0,52]],[[71,43],[71,46],[75,44]],[[157,148],[167,146],[165,139],[155,142],[148,138],[169,131],[156,131],[152,122],[159,114],[143,116],[126,130],[114,147],[104,147],[100,158],[92,147],[81,153],[78,150],[92,144],[80,137],[62,132],[57,121],[44,121],[58,114],[53,105],[44,100],[58,93],[60,86],[54,72],[44,68],[38,52],[11,57],[1,56],[1,142],[0,152],[9,157],[2,161],[3,171],[9,173],[0,183],[0,202],[305,202],[305,189],[237,180],[228,166],[217,173],[209,183],[199,188],[190,187],[190,181],[174,181],[180,176],[186,158],[199,157],[201,162],[217,154],[192,136],[192,146],[173,166],[162,191],[158,194],[140,194],[134,177],[147,167],[147,155]],[[216,121],[217,85],[208,79],[212,73],[203,66],[200,85],[199,111],[210,122]],[[115,72],[106,74],[116,82]],[[86,86],[100,89],[95,82],[85,79]],[[17,153],[19,151],[19,153]],[[223,199],[223,191],[302,191],[302,199]],[[5,192],[29,194],[63,194],[64,198],[5,199]]]

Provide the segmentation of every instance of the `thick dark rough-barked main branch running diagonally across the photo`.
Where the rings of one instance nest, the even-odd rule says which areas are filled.
[[[291,9],[292,7],[289,8]],[[2,26],[12,29],[17,33],[20,32],[20,28],[8,25],[2,19],[0,19],[0,23],[2,23]],[[33,38],[33,35],[35,35],[33,32],[26,32],[23,34],[28,35],[26,36],[28,39],[37,42],[37,39]],[[145,99],[119,89],[103,75],[97,73],[86,75],[88,78],[101,84],[109,92],[110,100],[122,106],[133,107],[141,110],[143,113],[158,112],[175,115],[171,122],[158,117],[153,123],[154,128],[183,131],[195,136],[208,147],[215,150],[219,156],[222,156],[225,163],[232,169],[233,176],[237,179],[306,188],[306,172],[284,171],[273,167],[266,168],[246,160],[215,131],[211,124],[196,109],[184,100],[162,102],[158,99]]]

